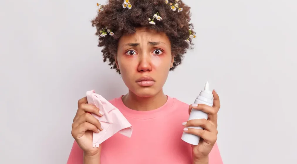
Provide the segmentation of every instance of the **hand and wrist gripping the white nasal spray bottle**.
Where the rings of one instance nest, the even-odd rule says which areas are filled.
[[[197,104],[192,104],[189,106],[189,113],[192,108],[201,110],[208,113],[208,119],[189,120],[183,123],[186,123],[184,125],[184,132],[200,136],[201,138],[198,145],[192,145],[193,163],[195,163],[195,161],[199,163],[208,163],[208,154],[211,152],[211,149],[217,141],[217,113],[220,108],[220,101],[219,95],[214,90],[212,91],[212,94],[214,95],[213,106],[205,104],[199,104],[198,106]],[[187,128],[190,126],[202,127],[204,129]]]

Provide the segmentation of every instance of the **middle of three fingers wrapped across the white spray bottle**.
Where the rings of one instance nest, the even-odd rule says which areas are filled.
[[[206,119],[189,120],[187,122],[183,122],[183,125],[184,127],[202,127],[205,130],[210,131],[211,133],[217,133],[217,128]]]

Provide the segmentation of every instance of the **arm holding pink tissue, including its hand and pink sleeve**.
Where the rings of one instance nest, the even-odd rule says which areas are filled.
[[[102,116],[100,110],[87,104],[84,97],[78,101],[78,110],[73,119],[71,135],[75,139],[67,164],[99,164],[101,146],[92,147],[93,132],[99,133],[102,130],[99,120],[90,113]]]

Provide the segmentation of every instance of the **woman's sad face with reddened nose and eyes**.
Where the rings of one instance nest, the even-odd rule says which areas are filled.
[[[137,28],[135,34],[119,40],[116,65],[125,85],[139,97],[162,91],[173,61],[165,33]]]

